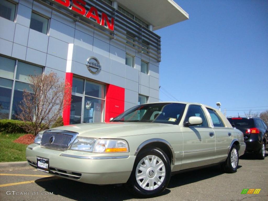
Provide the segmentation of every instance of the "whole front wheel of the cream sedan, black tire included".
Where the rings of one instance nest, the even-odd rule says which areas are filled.
[[[154,158],[151,158],[152,156]],[[149,159],[151,159],[151,161],[149,160],[149,163],[147,163],[151,166],[148,166],[145,163],[146,159],[144,159],[144,158],[147,158],[147,157]],[[153,165],[153,159],[154,159],[156,165]],[[156,171],[154,168],[158,168],[157,164],[159,164],[159,166],[161,166],[161,164],[162,164],[161,161],[163,162],[164,166],[159,168],[159,170],[162,172],[165,171],[165,176],[158,176],[157,177]],[[139,165],[139,163],[140,163],[140,165]],[[145,169],[144,169],[144,171],[140,170],[140,168],[137,168],[138,165],[139,165],[139,167],[141,165],[144,165],[144,167],[146,167],[146,170]],[[139,179],[137,180],[136,173],[137,174],[145,174],[146,175],[146,177],[144,177],[145,179],[142,178],[140,180]],[[150,178],[150,177],[152,177],[152,178]],[[162,178],[162,177],[164,177],[164,178]],[[148,148],[146,150],[141,151],[137,155],[134,166],[133,166],[133,170],[132,170],[131,175],[130,175],[125,186],[129,192],[133,193],[134,195],[136,195],[138,197],[151,198],[151,197],[159,195],[161,192],[163,192],[166,189],[166,187],[168,186],[170,177],[171,177],[171,167],[170,167],[170,161],[169,161],[168,156],[161,149],[151,147],[151,148]],[[156,182],[154,182],[154,179],[158,180],[159,183],[157,184]],[[162,180],[162,183],[160,180]],[[143,181],[145,181],[145,182],[143,182]],[[150,188],[150,181],[152,182],[151,188],[155,188],[155,189],[149,189],[149,190],[145,189],[145,188]],[[144,188],[141,187],[142,184],[146,184],[144,186]],[[148,187],[147,187],[147,185],[148,185]]]

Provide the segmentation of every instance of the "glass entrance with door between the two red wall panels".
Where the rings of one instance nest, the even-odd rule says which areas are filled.
[[[103,122],[105,85],[73,77],[70,124]]]

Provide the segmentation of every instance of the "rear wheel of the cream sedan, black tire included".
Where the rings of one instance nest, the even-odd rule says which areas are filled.
[[[233,153],[233,154],[232,154]],[[236,156],[235,156],[236,155]],[[237,163],[233,163],[235,158],[237,159]],[[235,160],[236,161],[236,160]],[[230,149],[230,152],[228,154],[228,157],[226,161],[222,164],[222,169],[226,173],[235,173],[238,167],[238,162],[239,162],[239,154],[236,145],[234,144],[232,148]]]

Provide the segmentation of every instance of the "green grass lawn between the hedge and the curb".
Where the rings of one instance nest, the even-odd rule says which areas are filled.
[[[26,161],[25,151],[28,145],[14,143],[25,133],[0,133],[0,162]]]

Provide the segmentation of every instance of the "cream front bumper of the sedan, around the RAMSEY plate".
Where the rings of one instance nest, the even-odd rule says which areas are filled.
[[[136,156],[129,153],[96,154],[82,151],[58,151],[31,144],[26,148],[28,163],[36,157],[48,158],[50,174],[88,184],[126,183]]]

